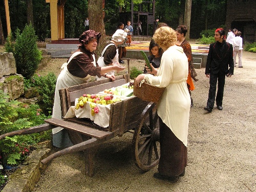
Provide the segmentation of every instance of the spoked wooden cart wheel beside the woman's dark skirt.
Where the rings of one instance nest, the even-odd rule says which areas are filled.
[[[142,170],[150,170],[159,163],[159,120],[155,103],[150,102],[141,114],[141,122],[133,136],[135,164]]]

